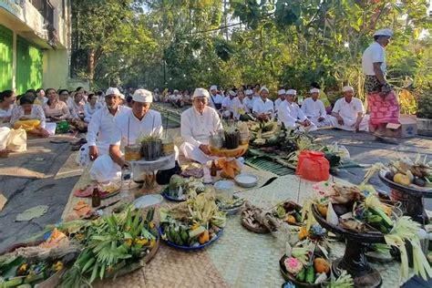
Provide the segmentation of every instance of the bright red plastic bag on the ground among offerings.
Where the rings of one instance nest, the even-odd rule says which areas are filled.
[[[323,152],[304,150],[300,152],[295,174],[305,180],[325,181],[330,176],[330,163]]]

